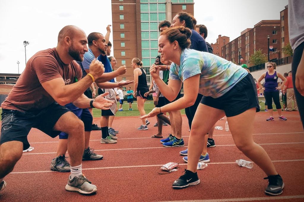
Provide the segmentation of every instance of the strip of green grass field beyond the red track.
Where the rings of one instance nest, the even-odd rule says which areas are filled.
[[[117,105],[119,106],[119,102],[117,103]],[[264,103],[260,103],[261,105],[261,112],[265,112],[265,105]],[[274,108],[274,111],[276,111],[275,109],[275,105],[273,104],[272,107]],[[129,108],[129,103],[127,103],[126,101],[123,102],[123,110],[124,111],[117,111],[116,116],[140,116],[139,111],[137,109],[137,102],[133,102],[132,103],[132,108],[133,111],[128,111]],[[146,113],[149,113],[152,109],[154,108],[154,104],[152,100],[147,100],[145,103],[145,111]],[[283,106],[282,106],[283,108]],[[2,113],[2,109],[0,109],[0,112]],[[181,114],[185,114],[185,109],[181,110]],[[97,118],[101,116],[101,111],[100,109],[93,109],[93,117]],[[1,120],[1,117],[0,117]]]

